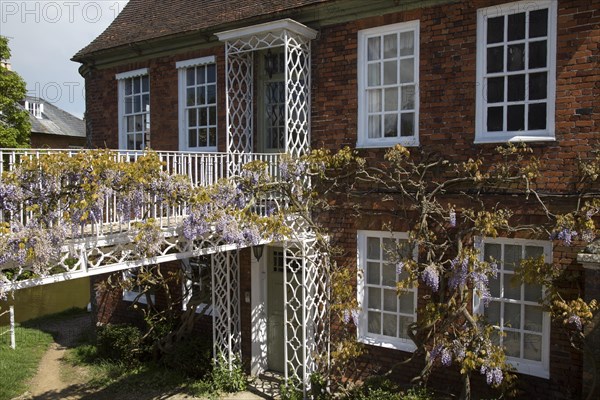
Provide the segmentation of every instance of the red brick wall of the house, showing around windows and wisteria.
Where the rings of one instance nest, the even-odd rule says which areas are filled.
[[[337,150],[354,147],[357,141],[357,33],[361,29],[403,21],[420,20],[421,147],[411,149],[443,155],[454,161],[478,154],[490,155],[495,144],[476,145],[476,25],[477,9],[506,3],[498,0],[461,1],[406,12],[322,27],[312,43],[312,146]],[[590,155],[600,127],[600,2],[559,1],[557,30],[556,141],[533,143],[535,155],[544,163],[543,185],[551,191],[570,191],[577,170],[577,157]],[[151,87],[152,147],[178,148],[177,70],[175,62],[204,55],[217,57],[219,148],[225,143],[225,84],[223,47],[160,57],[147,62],[93,70],[86,78],[87,113],[93,127],[94,145],[117,147],[117,81],[115,74],[148,67]],[[385,149],[361,150],[371,159],[382,160]],[[381,206],[381,204],[375,204]],[[527,215],[526,204],[519,206]],[[335,244],[345,250],[340,262],[356,267],[356,230],[381,229],[381,220],[357,219],[347,210],[320,216]],[[405,229],[398,226],[398,229]],[[564,253],[563,253],[564,251]],[[242,251],[241,318],[243,354],[250,354],[250,309],[244,292],[250,290],[249,251]],[[555,260],[577,270],[571,249],[555,253]],[[581,357],[570,351],[557,327],[551,335],[549,380],[521,376],[531,398],[576,397],[581,384]],[[364,371],[389,367],[405,353],[369,348],[362,362]],[[398,369],[396,377],[406,381],[418,365]],[[441,385],[454,387],[452,374],[435,375]]]

